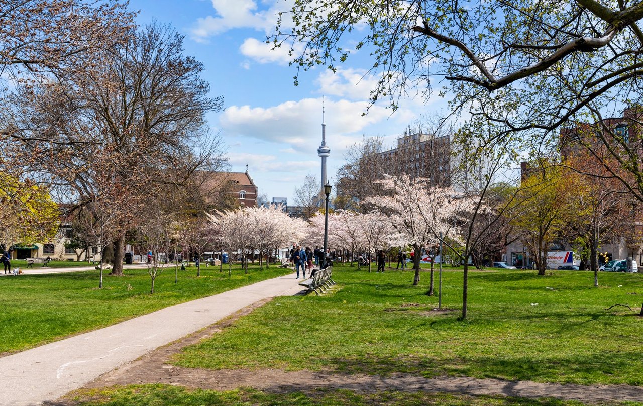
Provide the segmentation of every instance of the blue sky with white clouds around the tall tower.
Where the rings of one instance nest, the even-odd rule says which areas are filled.
[[[321,178],[321,109],[331,148],[328,177],[336,180],[350,145],[363,136],[383,136],[393,146],[404,129],[423,114],[443,111],[444,100],[402,100],[392,112],[386,104],[368,107],[376,78],[365,52],[357,52],[336,73],[325,67],[300,73],[289,66],[286,49],[272,51],[266,37],[277,13],[292,0],[131,0],[138,23],[170,23],[185,35],[185,54],[203,62],[212,96],[224,97],[225,110],[208,115],[213,133],[228,147],[231,171],[248,172],[269,199],[288,198],[307,174]],[[350,44],[347,44],[350,46]]]

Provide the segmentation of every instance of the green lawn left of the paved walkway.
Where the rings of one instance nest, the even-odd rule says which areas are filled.
[[[180,267],[180,266],[179,266]],[[291,272],[271,267],[259,271],[249,266],[245,275],[233,266],[232,276],[218,267],[194,266],[179,270],[174,284],[174,268],[156,279],[150,295],[146,270],[125,270],[123,277],[105,272],[104,288],[98,289],[98,271],[20,275],[0,278],[0,353],[18,351],[51,342],[68,335],[109,326],[173,304],[199,299]]]

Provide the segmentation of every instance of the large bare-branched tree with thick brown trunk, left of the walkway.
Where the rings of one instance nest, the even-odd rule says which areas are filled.
[[[35,123],[27,133],[41,134],[43,142],[24,145],[39,158],[32,171],[53,174],[79,205],[95,199],[100,182],[88,171],[108,150],[119,163],[109,176],[131,197],[119,222],[133,228],[139,216],[132,203],[193,187],[188,180],[197,169],[220,167],[221,142],[211,136],[205,115],[219,111],[222,98],[209,97],[203,64],[183,55],[183,36],[170,26],[132,32],[126,44],[97,59],[60,85],[42,85],[24,120]],[[70,140],[75,143],[67,147]],[[113,275],[122,274],[124,232],[115,237]]]

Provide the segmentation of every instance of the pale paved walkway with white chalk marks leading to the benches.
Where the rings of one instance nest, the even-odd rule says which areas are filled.
[[[192,300],[104,329],[0,358],[0,405],[52,401],[119,365],[258,300],[302,290],[294,274]],[[97,309],[100,311],[100,309]]]

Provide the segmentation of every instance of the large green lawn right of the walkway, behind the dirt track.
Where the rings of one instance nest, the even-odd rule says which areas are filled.
[[[412,287],[412,272],[355,269],[334,269],[331,294],[275,299],[174,362],[643,385],[643,274],[601,273],[593,288],[590,272],[471,272],[460,321],[461,271],[444,272],[443,307],[455,311],[436,314],[428,273]],[[617,303],[638,309],[606,310]]]

